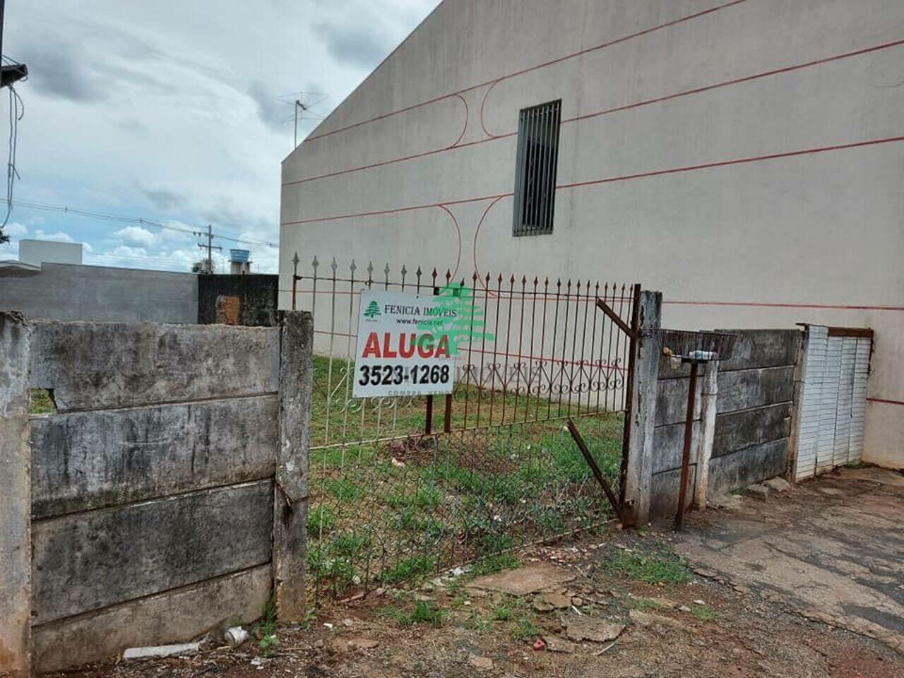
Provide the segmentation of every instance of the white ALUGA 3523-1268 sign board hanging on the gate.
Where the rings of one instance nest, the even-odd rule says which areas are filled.
[[[361,293],[355,398],[451,393],[455,357],[444,329],[454,314],[439,297]]]

